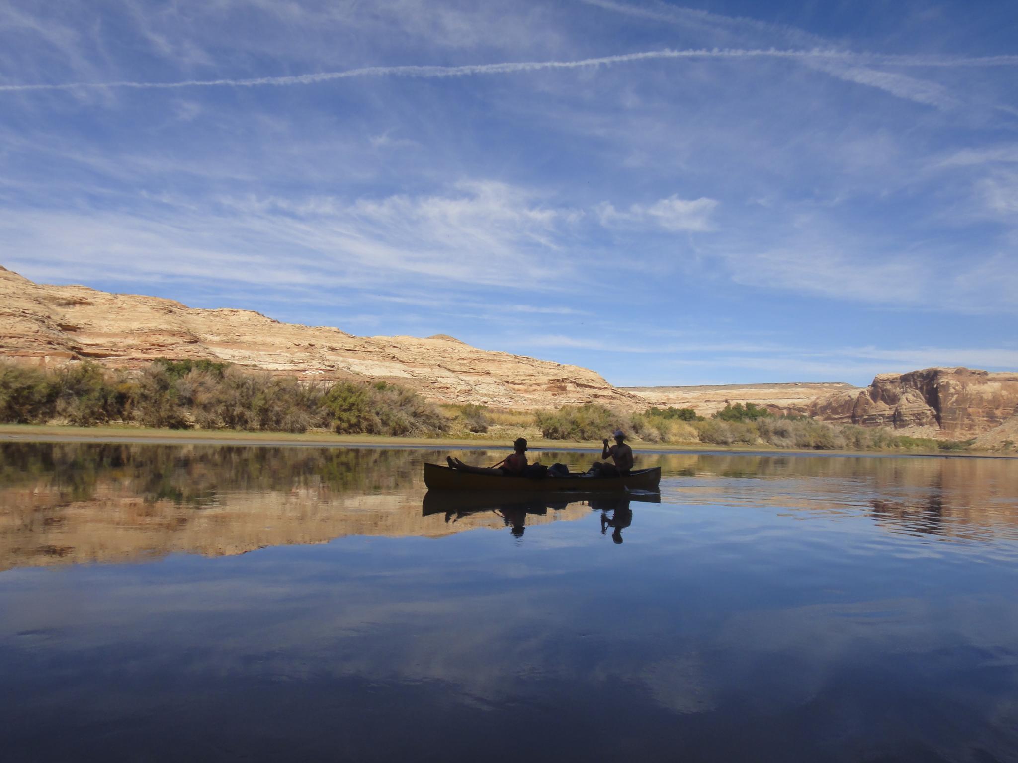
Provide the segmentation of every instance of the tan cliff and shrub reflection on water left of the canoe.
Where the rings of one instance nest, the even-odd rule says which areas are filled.
[[[0,570],[501,528],[422,514],[430,450],[0,445]],[[529,524],[576,519],[573,505]]]

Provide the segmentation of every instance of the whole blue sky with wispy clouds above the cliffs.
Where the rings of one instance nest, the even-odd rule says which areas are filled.
[[[0,265],[620,386],[1018,368],[1013,0],[0,0]]]

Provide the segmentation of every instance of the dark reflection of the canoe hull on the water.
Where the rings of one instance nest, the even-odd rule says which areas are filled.
[[[527,514],[547,514],[549,511],[565,509],[569,504],[586,501],[595,511],[626,509],[630,501],[660,504],[658,492],[568,492],[562,495],[541,495],[523,497],[519,494],[506,495],[504,492],[472,492],[450,490],[429,490],[420,510],[423,516],[432,514],[472,514],[499,510],[525,511]]]

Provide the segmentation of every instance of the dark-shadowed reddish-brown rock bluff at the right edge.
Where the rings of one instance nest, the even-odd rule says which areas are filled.
[[[815,400],[808,413],[827,421],[970,436],[1004,424],[1016,408],[1018,373],[925,368],[882,373],[865,390]]]

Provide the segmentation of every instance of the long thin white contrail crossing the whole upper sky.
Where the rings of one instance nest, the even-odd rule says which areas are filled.
[[[25,93],[32,91],[76,91],[76,90],[179,90],[183,87],[279,87],[291,84],[317,84],[333,79],[352,79],[355,77],[459,77],[480,74],[514,74],[547,69],[580,69],[598,66],[613,66],[615,64],[633,61],[648,61],[654,59],[693,59],[693,58],[778,58],[791,60],[824,60],[843,61],[845,63],[870,63],[889,66],[910,67],[955,67],[955,66],[1018,66],[1018,56],[909,56],[886,55],[878,53],[854,53],[839,50],[740,50],[733,48],[713,48],[699,50],[664,50],[644,51],[642,53],[624,53],[616,56],[601,56],[599,58],[583,58],[575,61],[518,61],[508,63],[467,64],[464,66],[364,66],[344,71],[323,71],[317,74],[298,74],[277,77],[251,77],[247,79],[186,79],[177,82],[61,82],[56,84],[0,84],[0,92]]]

